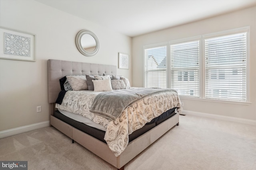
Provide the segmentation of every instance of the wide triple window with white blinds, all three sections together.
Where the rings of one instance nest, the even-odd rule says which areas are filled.
[[[248,102],[248,34],[249,27],[243,27],[144,46],[144,87],[172,88],[184,97]]]

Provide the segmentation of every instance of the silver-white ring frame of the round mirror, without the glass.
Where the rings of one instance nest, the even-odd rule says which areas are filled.
[[[88,52],[88,51],[84,50],[84,48],[82,47],[81,39],[82,39],[82,36],[83,36],[84,34],[89,34],[89,35],[92,35],[92,37],[94,37],[94,39],[95,39],[95,41],[96,41],[96,48],[95,48],[94,51]],[[78,48],[78,50],[80,51],[80,53],[82,53],[83,55],[85,55],[85,56],[87,56],[87,57],[92,57],[92,56],[96,55],[96,53],[98,53],[98,51],[99,51],[99,40],[98,40],[98,38],[96,37],[96,35],[95,35],[92,31],[83,29],[83,30],[81,30],[81,31],[76,35],[76,47]]]

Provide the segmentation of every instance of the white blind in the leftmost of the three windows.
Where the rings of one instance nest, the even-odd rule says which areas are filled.
[[[166,45],[144,49],[144,86],[166,88]]]

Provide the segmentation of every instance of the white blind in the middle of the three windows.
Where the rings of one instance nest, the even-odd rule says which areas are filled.
[[[171,88],[180,96],[200,95],[199,46],[199,40],[170,45]]]

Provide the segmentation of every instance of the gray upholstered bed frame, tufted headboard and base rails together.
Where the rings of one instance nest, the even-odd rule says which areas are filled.
[[[124,165],[137,156],[140,152],[154,143],[164,133],[175,125],[179,124],[179,114],[176,114],[166,121],[160,123],[150,131],[131,141],[124,152],[118,157],[114,156],[108,145],[98,139],[68,125],[64,121],[53,116],[55,101],[60,92],[59,79],[71,75],[94,75],[106,74],[117,75],[117,66],[106,64],[92,64],[72,61],[48,60],[48,103],[50,104],[50,125],[76,141],[86,149],[90,150],[106,162],[112,164],[120,170],[124,170]]]

